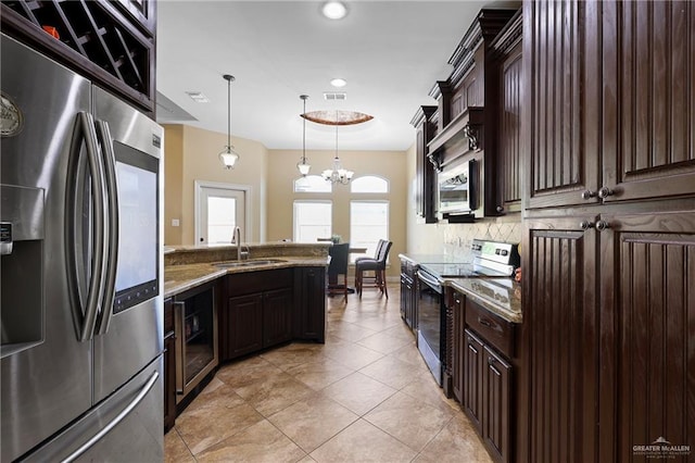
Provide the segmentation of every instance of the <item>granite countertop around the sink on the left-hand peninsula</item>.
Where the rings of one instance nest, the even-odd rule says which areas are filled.
[[[262,259],[262,258],[258,258]],[[253,261],[251,259],[250,261]],[[283,262],[247,265],[242,267],[218,268],[213,262],[166,265],[164,267],[164,299],[188,289],[212,281],[225,275],[248,272],[261,272],[275,268],[298,266],[326,266],[328,256],[282,256]]]

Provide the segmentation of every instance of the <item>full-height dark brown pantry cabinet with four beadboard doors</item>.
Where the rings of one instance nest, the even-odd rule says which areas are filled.
[[[526,1],[523,66],[518,460],[695,450],[695,3]]]

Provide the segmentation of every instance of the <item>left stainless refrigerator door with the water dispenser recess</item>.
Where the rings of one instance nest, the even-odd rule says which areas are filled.
[[[0,460],[12,461],[92,403],[91,342],[78,340],[84,310],[68,289],[75,236],[65,213],[90,84],[4,35],[0,48],[0,220],[13,233],[12,253],[0,258]]]

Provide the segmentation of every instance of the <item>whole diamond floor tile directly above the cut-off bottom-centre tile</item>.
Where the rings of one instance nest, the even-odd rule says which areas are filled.
[[[395,392],[394,388],[362,373],[353,373],[324,389],[326,397],[333,399],[361,416]]]

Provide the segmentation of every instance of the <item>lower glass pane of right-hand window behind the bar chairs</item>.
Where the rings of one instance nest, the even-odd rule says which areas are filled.
[[[367,248],[375,255],[380,239],[389,238],[388,201],[350,202],[350,247]],[[351,255],[354,261],[358,255]]]

